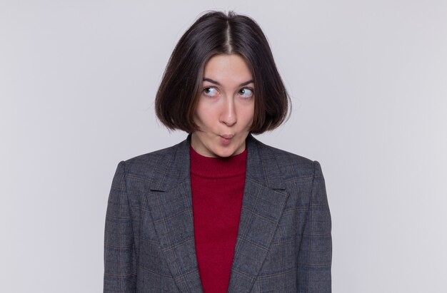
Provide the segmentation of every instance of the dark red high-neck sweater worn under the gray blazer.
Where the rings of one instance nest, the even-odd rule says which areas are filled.
[[[247,150],[207,158],[191,147],[194,239],[204,292],[227,292],[238,235]]]

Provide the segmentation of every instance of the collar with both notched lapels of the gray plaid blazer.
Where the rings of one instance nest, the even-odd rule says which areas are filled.
[[[161,249],[181,292],[202,292],[194,245],[191,135],[164,152],[146,196]],[[268,253],[288,197],[273,149],[248,135],[241,220],[228,292],[249,292]]]

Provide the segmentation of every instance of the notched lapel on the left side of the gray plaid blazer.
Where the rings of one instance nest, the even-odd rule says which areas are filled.
[[[146,195],[161,250],[181,292],[202,292],[194,244],[189,138],[159,158]]]

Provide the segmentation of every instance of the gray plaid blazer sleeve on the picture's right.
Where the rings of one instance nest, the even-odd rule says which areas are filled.
[[[313,162],[311,197],[298,252],[298,292],[331,292],[332,237],[321,166]]]

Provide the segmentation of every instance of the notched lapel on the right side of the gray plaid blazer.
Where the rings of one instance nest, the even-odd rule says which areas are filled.
[[[246,182],[228,292],[251,291],[288,197],[271,151],[251,135],[246,147]]]

